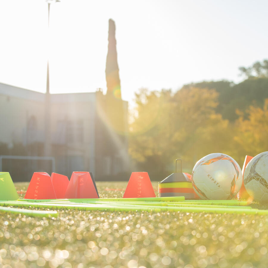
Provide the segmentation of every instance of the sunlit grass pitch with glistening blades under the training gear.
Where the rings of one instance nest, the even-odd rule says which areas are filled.
[[[96,184],[104,198],[122,197],[127,185]],[[28,183],[15,186],[23,198]],[[157,194],[156,182],[153,187]],[[48,219],[0,216],[0,268],[268,267],[268,216],[98,211],[59,211]]]

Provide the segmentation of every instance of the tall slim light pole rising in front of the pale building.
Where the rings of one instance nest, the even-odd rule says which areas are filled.
[[[48,32],[49,32],[49,10],[50,4],[60,2],[60,0],[46,0],[48,4]],[[45,143],[44,155],[51,155],[51,139],[50,139],[50,93],[49,93],[49,56],[47,57],[46,66],[46,100],[45,100]]]

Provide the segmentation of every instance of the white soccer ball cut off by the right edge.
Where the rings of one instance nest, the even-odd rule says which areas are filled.
[[[268,201],[268,152],[253,157],[244,171],[244,185],[257,201]]]

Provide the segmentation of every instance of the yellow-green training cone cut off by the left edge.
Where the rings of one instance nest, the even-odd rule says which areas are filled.
[[[0,200],[17,200],[18,198],[9,172],[0,172]]]

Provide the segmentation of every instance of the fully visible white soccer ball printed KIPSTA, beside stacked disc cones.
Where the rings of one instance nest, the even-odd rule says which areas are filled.
[[[241,188],[241,173],[238,163],[230,156],[221,153],[206,155],[194,166],[194,191],[202,199],[231,199]]]

